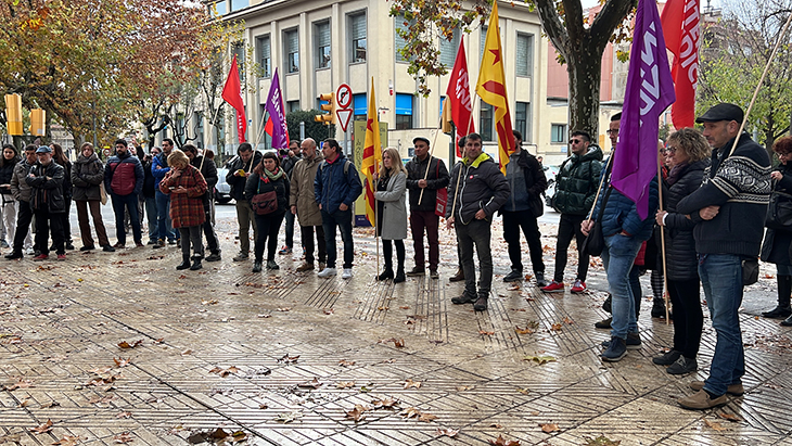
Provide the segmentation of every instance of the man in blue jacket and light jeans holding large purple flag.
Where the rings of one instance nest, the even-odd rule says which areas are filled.
[[[636,298],[630,286],[630,270],[641,244],[649,240],[654,228],[654,214],[657,212],[657,178],[649,188],[649,213],[641,220],[633,200],[611,186],[611,164],[605,171],[605,184],[600,192],[593,216],[599,216],[600,206],[604,202],[602,213],[602,233],[605,237],[605,247],[602,250],[602,264],[608,273],[608,289],[612,296],[611,313],[611,342],[601,355],[602,360],[615,362],[627,355],[627,346],[639,347],[641,340],[638,335],[638,319],[636,317]],[[580,230],[588,235],[593,220],[584,220]]]

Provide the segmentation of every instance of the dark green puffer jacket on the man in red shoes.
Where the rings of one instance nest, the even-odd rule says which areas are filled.
[[[583,156],[572,154],[555,176],[552,207],[561,214],[587,215],[593,205],[602,171],[602,150],[590,144]]]

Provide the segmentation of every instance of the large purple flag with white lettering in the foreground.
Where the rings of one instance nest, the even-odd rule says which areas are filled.
[[[660,115],[675,100],[657,5],[639,0],[611,183],[636,202],[641,219],[649,215],[649,184],[657,175]]]

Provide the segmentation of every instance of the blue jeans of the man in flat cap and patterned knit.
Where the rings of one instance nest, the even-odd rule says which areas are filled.
[[[740,383],[745,374],[738,314],[742,305],[742,258],[731,254],[701,254],[699,276],[712,326],[717,334],[710,378],[704,383],[704,390],[719,396],[726,393],[729,385]]]

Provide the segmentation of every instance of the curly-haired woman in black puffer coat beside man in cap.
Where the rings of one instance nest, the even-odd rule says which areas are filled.
[[[693,240],[693,224],[676,212],[677,204],[701,187],[704,168],[710,165],[712,150],[706,139],[692,128],[685,128],[668,137],[666,150],[674,167],[663,181],[664,211],[657,211],[657,225],[665,231],[666,280],[674,305],[674,347],[652,361],[668,366],[670,374],[694,372],[698,369],[704,316],[699,293],[698,257]]]

